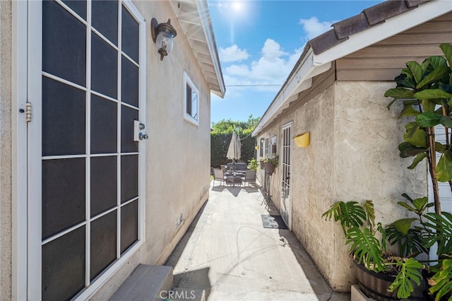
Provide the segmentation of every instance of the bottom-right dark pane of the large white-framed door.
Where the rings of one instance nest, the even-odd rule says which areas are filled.
[[[121,254],[138,240],[138,200],[121,208]]]

